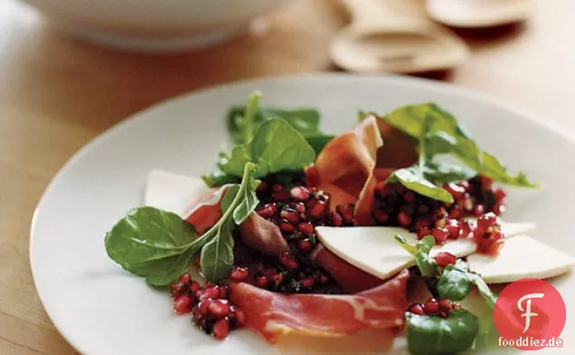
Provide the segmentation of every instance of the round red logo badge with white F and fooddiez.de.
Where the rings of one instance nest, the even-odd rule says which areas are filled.
[[[545,281],[523,278],[507,285],[495,302],[495,327],[503,345],[521,350],[557,346],[565,326],[565,302]],[[500,339],[502,345],[502,339]]]

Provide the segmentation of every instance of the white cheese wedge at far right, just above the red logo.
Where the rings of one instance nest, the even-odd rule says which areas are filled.
[[[573,257],[527,236],[505,240],[498,256],[474,254],[467,262],[488,284],[559,276],[575,266]]]

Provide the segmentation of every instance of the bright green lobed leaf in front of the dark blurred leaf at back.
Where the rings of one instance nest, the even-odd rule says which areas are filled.
[[[250,143],[237,145],[219,163],[222,173],[242,176],[246,163],[259,165],[257,177],[269,173],[301,171],[314,163],[316,152],[286,121],[270,119],[259,125]]]

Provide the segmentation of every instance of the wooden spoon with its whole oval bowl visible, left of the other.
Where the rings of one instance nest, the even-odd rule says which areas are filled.
[[[345,70],[414,73],[447,70],[467,60],[467,45],[455,34],[397,14],[390,0],[342,1],[353,21],[332,42],[331,57]]]

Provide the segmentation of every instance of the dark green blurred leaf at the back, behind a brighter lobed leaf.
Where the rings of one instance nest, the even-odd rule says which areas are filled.
[[[257,127],[272,118],[282,118],[304,135],[307,143],[314,147],[316,154],[335,135],[325,135],[319,129],[320,114],[315,108],[285,109],[279,107],[259,107],[259,93],[254,93],[246,106],[232,107],[228,112],[227,126],[231,140],[236,145],[250,142]]]

